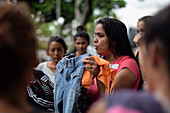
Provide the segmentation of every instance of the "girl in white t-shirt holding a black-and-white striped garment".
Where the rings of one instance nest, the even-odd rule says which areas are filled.
[[[66,53],[67,46],[58,36],[52,36],[48,41],[47,53],[51,61],[43,62],[34,70],[30,85],[27,86],[28,102],[33,107],[44,112],[54,111],[54,81],[56,65]]]

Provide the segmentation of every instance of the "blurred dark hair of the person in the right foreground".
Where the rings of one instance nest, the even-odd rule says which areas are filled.
[[[156,44],[170,73],[170,5],[159,11],[146,26],[144,42],[146,47],[150,43]]]

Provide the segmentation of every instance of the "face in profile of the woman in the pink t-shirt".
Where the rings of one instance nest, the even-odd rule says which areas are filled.
[[[102,27],[102,24],[96,25],[93,42],[97,54],[105,57],[111,54],[111,51],[109,50],[109,39]]]

